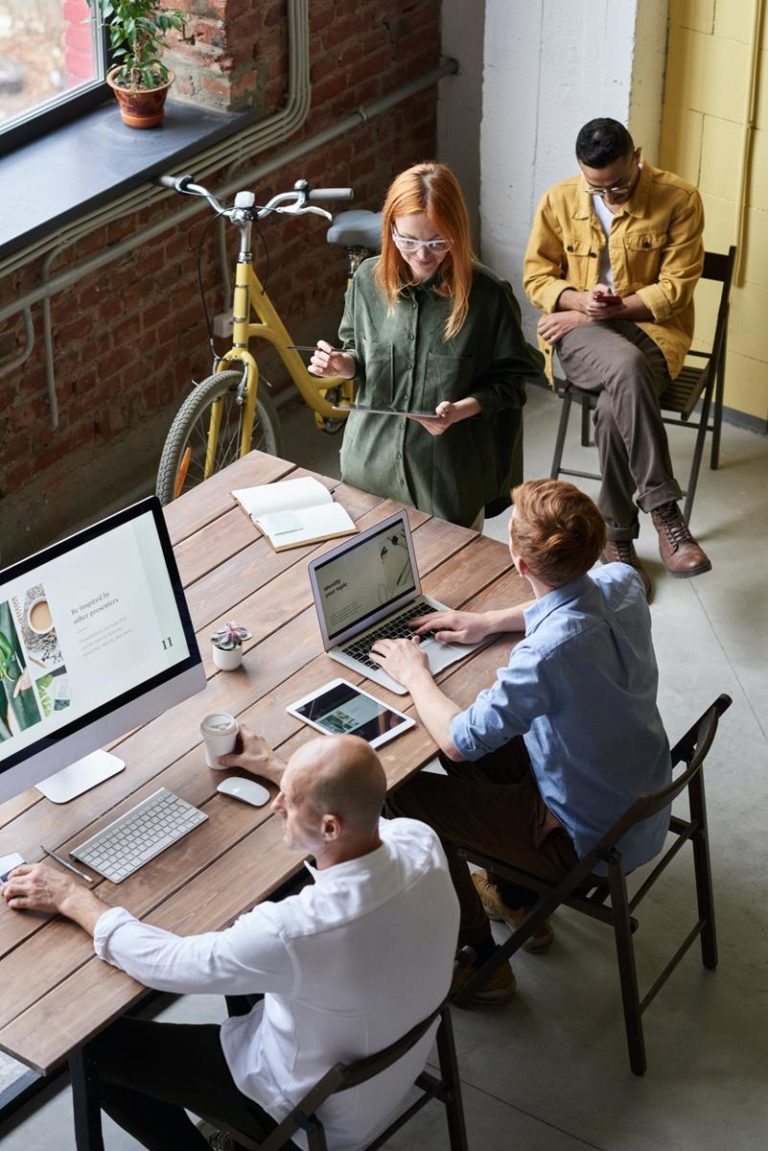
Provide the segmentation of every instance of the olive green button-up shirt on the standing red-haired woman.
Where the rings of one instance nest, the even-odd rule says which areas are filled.
[[[357,402],[434,411],[474,397],[481,412],[433,436],[415,420],[352,412],[341,451],[343,479],[356,487],[470,526],[484,508],[496,514],[523,478],[525,379],[542,357],[520,329],[512,289],[473,265],[469,312],[444,340],[451,303],[433,290],[440,273],[404,288],[387,310],[366,260],[348,291],[340,338],[357,366]]]

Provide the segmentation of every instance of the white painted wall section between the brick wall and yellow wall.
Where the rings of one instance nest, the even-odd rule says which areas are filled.
[[[450,45],[463,70],[470,61],[474,87],[470,107],[454,78],[443,82],[439,155],[456,170],[461,161],[471,195],[482,28],[480,254],[515,287],[529,334],[534,317],[519,285],[531,220],[542,192],[576,170],[579,128],[613,116],[656,158],[667,8],[668,0],[443,0],[443,52]]]

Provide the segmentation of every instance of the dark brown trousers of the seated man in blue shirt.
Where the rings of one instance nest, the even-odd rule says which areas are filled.
[[[487,939],[491,928],[458,847],[474,847],[555,881],[570,871],[577,855],[541,799],[520,737],[473,763],[441,762],[450,775],[420,771],[389,796],[387,808],[393,816],[421,820],[440,836],[461,906],[458,943],[472,946]],[[502,897],[511,907],[532,901],[520,889],[502,887]]]

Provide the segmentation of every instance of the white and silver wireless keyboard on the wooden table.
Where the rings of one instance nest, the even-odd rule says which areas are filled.
[[[69,854],[121,883],[205,820],[199,808],[160,787]]]

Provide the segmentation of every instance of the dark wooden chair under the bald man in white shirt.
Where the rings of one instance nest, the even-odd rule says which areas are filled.
[[[402,1038],[385,1047],[383,1051],[367,1055],[365,1059],[358,1059],[353,1064],[336,1064],[307,1091],[290,1114],[286,1115],[280,1126],[260,1143],[257,1143],[246,1131],[238,1131],[229,1125],[222,1125],[219,1120],[215,1120],[215,1126],[231,1135],[235,1143],[244,1148],[245,1151],[280,1151],[281,1148],[295,1148],[296,1144],[291,1142],[291,1137],[298,1130],[305,1133],[309,1151],[327,1151],[322,1123],[317,1116],[320,1105],[329,1096],[359,1087],[360,1083],[367,1083],[368,1080],[387,1070],[419,1042],[436,1019],[440,1019],[436,1034],[440,1073],[435,1075],[432,1072],[421,1072],[415,1084],[421,1092],[419,1097],[373,1143],[368,1143],[365,1151],[375,1151],[377,1148],[383,1146],[387,1139],[391,1138],[395,1131],[421,1111],[431,1099],[438,1099],[446,1108],[450,1151],[467,1151],[454,1029],[447,1004],[441,1004],[431,1015],[417,1023]]]

